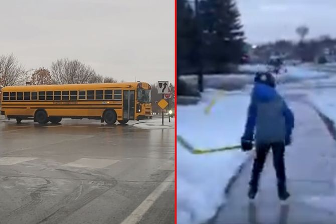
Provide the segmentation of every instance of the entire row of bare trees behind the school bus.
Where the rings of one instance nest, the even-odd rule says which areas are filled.
[[[25,70],[13,54],[0,56],[0,85],[3,87],[115,82],[113,77],[103,77],[78,60],[59,59],[52,63],[50,70],[44,67]]]

